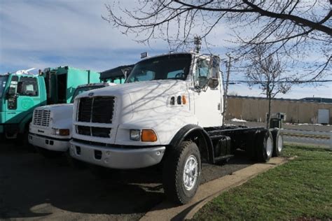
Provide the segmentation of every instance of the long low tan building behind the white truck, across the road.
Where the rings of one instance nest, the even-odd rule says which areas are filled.
[[[226,120],[265,122],[268,113],[268,99],[263,97],[229,95],[227,106]],[[286,113],[285,122],[332,124],[332,99],[273,99],[271,113]]]

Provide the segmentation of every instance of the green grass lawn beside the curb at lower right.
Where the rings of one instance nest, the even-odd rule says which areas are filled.
[[[221,194],[194,220],[331,220],[332,151],[285,145],[277,166]]]

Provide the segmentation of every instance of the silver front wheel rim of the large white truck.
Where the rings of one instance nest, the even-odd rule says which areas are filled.
[[[195,186],[198,177],[198,161],[194,155],[191,155],[184,164],[184,187],[191,190]]]

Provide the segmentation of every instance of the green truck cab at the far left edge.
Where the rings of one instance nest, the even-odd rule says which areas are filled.
[[[25,131],[37,106],[46,104],[43,76],[8,73],[0,76],[0,134],[15,138]]]

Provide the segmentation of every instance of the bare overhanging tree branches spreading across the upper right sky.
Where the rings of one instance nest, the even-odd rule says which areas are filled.
[[[179,50],[192,45],[195,34],[209,45],[209,34],[227,29],[236,39],[228,45],[237,44],[231,48],[237,59],[249,60],[256,47],[265,45],[271,55],[278,52],[310,66],[303,73],[307,79],[331,71],[331,0],[140,0],[136,8],[120,8],[117,14],[119,3],[106,5],[104,20],[141,43],[162,38]]]

